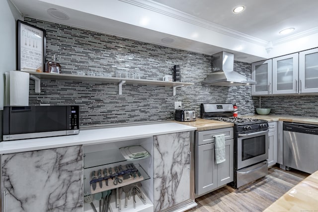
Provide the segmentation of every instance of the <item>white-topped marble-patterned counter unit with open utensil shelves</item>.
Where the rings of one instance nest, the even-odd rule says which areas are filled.
[[[92,211],[90,204],[84,204],[84,197],[93,194],[93,171],[132,163],[116,153],[121,147],[132,145],[143,146],[151,155],[134,161],[146,172],[142,185],[148,197],[147,209],[137,199],[136,210],[142,210],[139,206],[148,212],[190,209],[196,206],[191,184],[194,130],[195,127],[174,122],[156,122],[96,127],[72,136],[3,141],[1,211]],[[109,189],[112,188],[105,187],[104,191]],[[98,202],[93,200],[97,209]],[[128,207],[132,207],[132,202]]]

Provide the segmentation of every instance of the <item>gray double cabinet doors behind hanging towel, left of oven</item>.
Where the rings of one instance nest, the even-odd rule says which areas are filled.
[[[225,141],[226,161],[215,163],[214,143],[198,146],[197,160],[197,195],[201,195],[233,181],[234,140]]]

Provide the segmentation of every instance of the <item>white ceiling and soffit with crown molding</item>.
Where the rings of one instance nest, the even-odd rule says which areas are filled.
[[[318,47],[318,0],[11,1],[24,16],[203,54],[228,51],[248,63]],[[246,9],[234,14],[237,5]],[[49,8],[70,19],[50,16]],[[278,33],[289,27],[295,31]]]

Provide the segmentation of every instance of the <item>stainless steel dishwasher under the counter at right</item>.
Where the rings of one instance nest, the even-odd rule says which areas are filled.
[[[283,123],[283,164],[307,173],[318,170],[318,125]]]

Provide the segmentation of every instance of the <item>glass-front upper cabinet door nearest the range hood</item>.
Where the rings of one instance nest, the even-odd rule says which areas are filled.
[[[252,63],[252,95],[272,94],[272,60]]]

